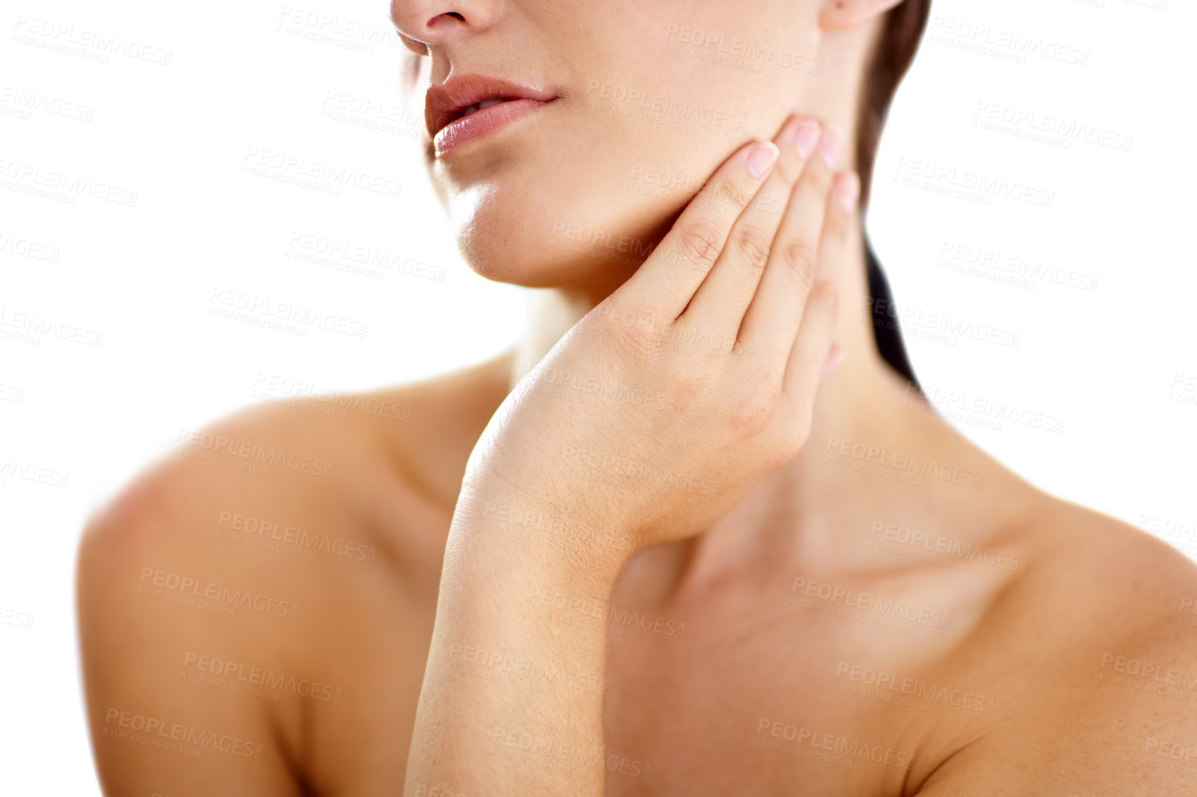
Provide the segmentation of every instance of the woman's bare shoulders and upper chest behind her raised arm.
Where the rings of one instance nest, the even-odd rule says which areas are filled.
[[[546,309],[542,330],[564,323],[566,310]],[[529,598],[553,622],[597,613],[610,626],[607,793],[1191,793],[1191,775],[1152,765],[1184,765],[1197,741],[1189,702],[1197,634],[1178,625],[1181,598],[1197,595],[1192,565],[1125,524],[1039,493],[911,409],[905,384],[855,345],[868,334],[861,316],[841,316],[837,340],[850,355],[819,394],[802,454],[705,534],[637,554],[609,609]],[[531,352],[371,396],[411,407],[406,424],[363,412],[341,420],[281,406],[247,410],[212,431],[332,462],[332,477],[284,468],[259,476],[176,456],[96,518],[80,553],[79,595],[107,793],[402,789],[457,488]],[[984,487],[915,486],[825,464],[832,437],[966,463],[985,474]],[[232,523],[220,524],[223,512],[279,524],[244,537],[268,541],[293,525],[377,554],[361,561],[317,548],[304,561],[247,547],[218,537]],[[1003,556],[986,554],[985,564],[949,552],[941,554],[949,566],[917,562],[909,555],[926,548],[903,544],[900,534],[888,533],[887,550],[869,548],[886,541],[885,527]],[[138,595],[156,578],[142,578],[145,567],[164,571],[163,584],[174,573],[294,601],[297,616],[244,606],[223,616]],[[796,578],[806,580],[796,588]],[[859,604],[861,594],[952,619],[941,628],[931,625],[942,625],[940,615],[830,613]],[[472,673],[506,673],[516,693],[560,687],[537,685],[517,662],[487,665],[493,652],[461,651],[474,657]],[[229,681],[261,668],[297,683],[257,685],[277,701],[196,683],[184,674],[212,677],[199,673],[201,656],[243,665],[230,668]],[[1134,662],[1156,665],[1157,677]],[[876,681],[867,673],[893,676],[897,690],[874,683],[889,701],[859,694]],[[341,689],[339,702],[323,692],[302,696],[304,680]],[[573,683],[583,694],[594,688],[584,677]],[[894,701],[903,698],[913,705]],[[261,759],[209,747],[188,758],[105,735],[132,734],[135,714],[261,744]],[[839,758],[758,741],[809,755],[828,746]],[[845,743],[857,752],[867,744],[881,760],[844,755]],[[913,767],[904,768],[911,755]]]

